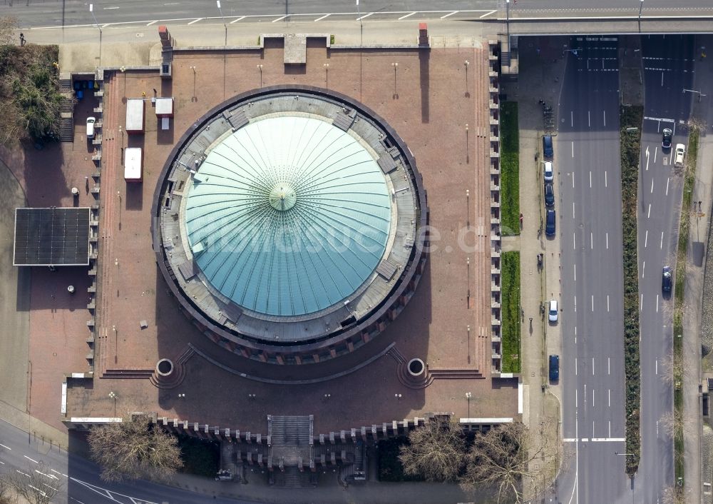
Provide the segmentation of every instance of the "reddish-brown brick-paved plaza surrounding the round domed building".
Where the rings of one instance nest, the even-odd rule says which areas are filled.
[[[173,80],[168,81],[155,71],[107,72],[95,374],[93,380],[73,380],[68,417],[146,410],[265,432],[268,414],[314,414],[315,433],[434,411],[452,411],[460,418],[518,418],[517,380],[491,380],[487,46],[369,49],[360,54],[327,51],[324,42],[310,42],[306,66],[289,68],[282,60],[282,41],[275,41],[264,51],[177,52]],[[261,84],[328,87],[371,107],[414,153],[428,195],[433,243],[414,298],[374,341],[319,365],[267,365],[216,346],[178,311],[151,247],[150,206],[174,142],[213,106]],[[170,129],[160,129],[148,101],[145,134],[120,131],[125,99],[154,93],[175,97]],[[11,168],[19,173],[31,206],[93,204],[84,190],[94,167],[83,138],[83,121],[93,106],[86,99],[76,109],[73,145],[13,158],[16,166]],[[143,183],[127,184],[122,153],[133,146],[144,149]],[[72,200],[73,186],[81,188],[78,201]],[[70,283],[77,287],[74,296],[66,292]],[[90,281],[85,268],[55,273],[34,268],[31,285],[31,413],[61,426],[63,373],[88,371],[85,293]],[[140,328],[140,321],[148,327]],[[391,351],[382,355],[392,343]],[[394,354],[422,358],[431,370],[479,371],[482,378],[439,378],[426,388],[406,388],[399,382]],[[187,358],[183,383],[168,390],[152,385],[145,372],[160,358],[175,362],[181,355]],[[114,378],[118,373],[144,378]],[[294,380],[310,383],[275,383]],[[466,392],[473,395],[470,403]]]

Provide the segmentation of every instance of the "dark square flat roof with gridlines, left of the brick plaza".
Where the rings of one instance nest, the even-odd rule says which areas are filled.
[[[88,266],[90,208],[15,208],[13,266]]]

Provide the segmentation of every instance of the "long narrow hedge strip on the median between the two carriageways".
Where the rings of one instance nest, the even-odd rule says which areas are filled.
[[[624,239],[624,369],[626,375],[626,472],[639,468],[640,389],[639,261],[637,257],[637,188],[641,149],[641,106],[620,107],[622,231]],[[632,128],[631,131],[627,129]],[[633,129],[635,128],[635,129]]]

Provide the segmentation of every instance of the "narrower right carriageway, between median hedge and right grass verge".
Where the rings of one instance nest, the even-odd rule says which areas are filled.
[[[674,484],[673,442],[662,420],[673,408],[671,373],[673,296],[662,292],[662,267],[675,267],[683,173],[673,166],[676,143],[687,145],[693,82],[694,37],[642,39],[645,109],[639,186],[639,292],[641,296],[641,463],[635,494],[658,502]],[[674,131],[673,147],[662,149],[662,130]],[[684,211],[689,211],[684,208]],[[647,480],[639,484],[640,475]]]

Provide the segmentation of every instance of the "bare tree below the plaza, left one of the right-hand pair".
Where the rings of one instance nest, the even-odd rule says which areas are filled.
[[[461,425],[450,417],[436,416],[409,433],[409,445],[401,446],[399,460],[404,473],[428,481],[455,481],[463,468],[466,443]]]

